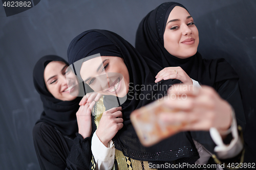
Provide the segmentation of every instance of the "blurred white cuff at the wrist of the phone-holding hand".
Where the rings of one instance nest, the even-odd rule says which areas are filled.
[[[219,131],[216,128],[210,128],[210,136],[217,145],[214,151],[220,159],[228,159],[237,156],[243,149],[242,141],[238,135],[237,120],[232,110],[232,124],[230,127],[233,139],[230,144],[224,144]]]

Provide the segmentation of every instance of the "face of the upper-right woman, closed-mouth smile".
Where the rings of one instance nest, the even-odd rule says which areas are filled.
[[[198,29],[187,10],[174,7],[167,19],[163,39],[165,49],[175,57],[184,59],[197,53]]]

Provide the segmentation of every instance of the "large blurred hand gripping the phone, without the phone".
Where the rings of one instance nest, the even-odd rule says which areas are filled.
[[[181,88],[177,87],[181,86]],[[184,90],[182,84],[168,90],[164,104],[178,112],[162,113],[160,118],[167,124],[181,123],[180,131],[208,131],[216,128],[220,134],[228,130],[232,122],[231,106],[209,86]],[[166,98],[165,98],[166,99]]]

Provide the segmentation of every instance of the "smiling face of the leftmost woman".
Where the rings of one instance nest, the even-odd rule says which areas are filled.
[[[44,71],[44,79],[48,91],[54,98],[61,101],[72,101],[76,99],[76,95],[71,95],[69,92],[78,93],[78,86],[75,86],[77,84],[75,75],[73,76],[74,79],[66,79],[66,75],[70,76],[73,74],[67,68],[68,65],[62,61],[51,61],[47,64]],[[68,86],[71,88],[68,88]]]

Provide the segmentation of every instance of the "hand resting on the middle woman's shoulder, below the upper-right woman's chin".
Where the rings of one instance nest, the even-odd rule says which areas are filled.
[[[165,67],[158,72],[155,83],[161,80],[178,79],[186,85],[193,85],[193,81],[181,67]]]

